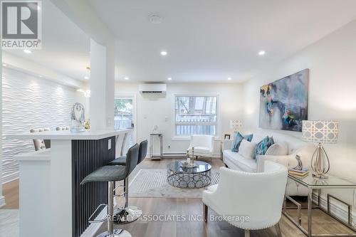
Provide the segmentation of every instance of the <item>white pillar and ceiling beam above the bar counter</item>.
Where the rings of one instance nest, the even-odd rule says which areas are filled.
[[[98,101],[90,103],[90,107],[93,107],[92,110],[98,110],[98,115],[93,114],[93,129],[95,127],[105,128],[112,130],[114,128],[114,88],[115,88],[115,36],[112,34],[108,26],[101,21],[95,11],[91,8],[90,4],[87,1],[67,1],[67,0],[51,0],[58,9],[68,16],[68,18],[73,21],[77,26],[79,26],[88,36],[90,36],[91,41],[100,44],[100,46],[105,47],[105,77],[95,77],[98,75],[94,70],[102,71],[103,68],[101,63],[98,61],[98,58],[95,58],[95,55],[90,56],[90,68],[92,69],[93,78],[90,78],[90,83],[93,83],[93,80],[98,80],[98,88],[91,87],[91,94],[98,98]],[[93,50],[93,48],[92,48]],[[94,57],[94,58],[93,58]],[[101,57],[99,57],[99,60]],[[105,93],[103,94],[100,90],[105,87]],[[98,90],[98,92],[97,92]],[[98,95],[97,95],[98,93]],[[104,98],[103,98],[104,96]],[[94,101],[94,98],[93,100]],[[101,104],[99,104],[101,102]],[[99,108],[105,108],[105,113]],[[101,111],[101,112],[100,112]],[[97,118],[103,120],[103,122],[97,122]],[[99,126],[99,127],[98,127]]]

